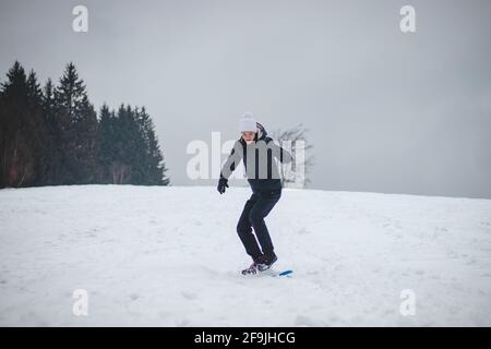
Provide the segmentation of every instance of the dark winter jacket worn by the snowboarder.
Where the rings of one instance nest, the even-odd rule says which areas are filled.
[[[291,154],[275,144],[261,123],[258,122],[256,124],[255,142],[248,145],[242,137],[236,141],[227,161],[221,168],[220,177],[228,179],[240,160],[243,160],[248,182],[253,192],[279,190],[283,186],[283,181],[274,158],[277,158],[282,164],[287,164],[291,161]],[[252,166],[248,164],[252,161]]]

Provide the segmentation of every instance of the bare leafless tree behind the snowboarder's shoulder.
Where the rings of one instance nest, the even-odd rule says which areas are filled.
[[[282,177],[284,180],[284,185],[286,188],[292,186],[292,183],[296,183],[296,169],[298,169],[302,164],[298,164],[298,160],[300,157],[297,156],[297,152],[303,151],[304,152],[304,160],[303,160],[303,167],[304,167],[304,179],[303,179],[303,186],[310,183],[310,179],[308,177],[308,173],[310,173],[313,165],[314,165],[314,158],[311,155],[312,152],[312,144],[309,144],[307,141],[307,132],[309,130],[303,127],[303,124],[298,124],[291,129],[282,130],[282,129],[275,129],[272,131],[272,137],[274,140],[277,140],[279,144],[282,145],[283,142],[290,142],[291,144],[291,156],[294,158],[292,164],[284,164],[280,165],[282,168]],[[302,142],[299,142],[302,141]],[[303,149],[301,149],[301,146],[303,145]]]

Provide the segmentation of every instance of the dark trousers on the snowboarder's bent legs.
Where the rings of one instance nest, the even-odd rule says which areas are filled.
[[[242,214],[240,215],[239,222],[237,224],[237,232],[246,248],[246,252],[254,261],[262,253],[273,253],[273,242],[264,222],[264,217],[276,205],[280,196],[282,190],[254,192],[251,198],[246,202]],[[252,228],[254,228],[255,237],[252,233]],[[261,244],[262,252],[255,238],[258,238]]]

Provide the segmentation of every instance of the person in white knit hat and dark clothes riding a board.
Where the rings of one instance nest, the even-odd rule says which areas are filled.
[[[243,275],[248,275],[264,272],[277,261],[264,218],[282,197],[283,181],[279,178],[275,158],[280,163],[290,163],[291,154],[275,144],[273,139],[267,136],[264,127],[256,122],[252,115],[246,113],[239,127],[241,136],[233,144],[221,168],[217,190],[220,194],[225,193],[225,189],[228,188],[228,178],[240,160],[243,160],[252,195],[246,202],[240,215],[237,232],[246,252],[253,261],[249,268],[242,270]],[[252,228],[254,228],[255,237]]]

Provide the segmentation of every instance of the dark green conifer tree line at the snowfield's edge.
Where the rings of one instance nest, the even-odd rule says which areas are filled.
[[[59,184],[168,185],[163,152],[144,107],[91,104],[68,63],[41,87],[19,61],[0,85],[0,188]]]

